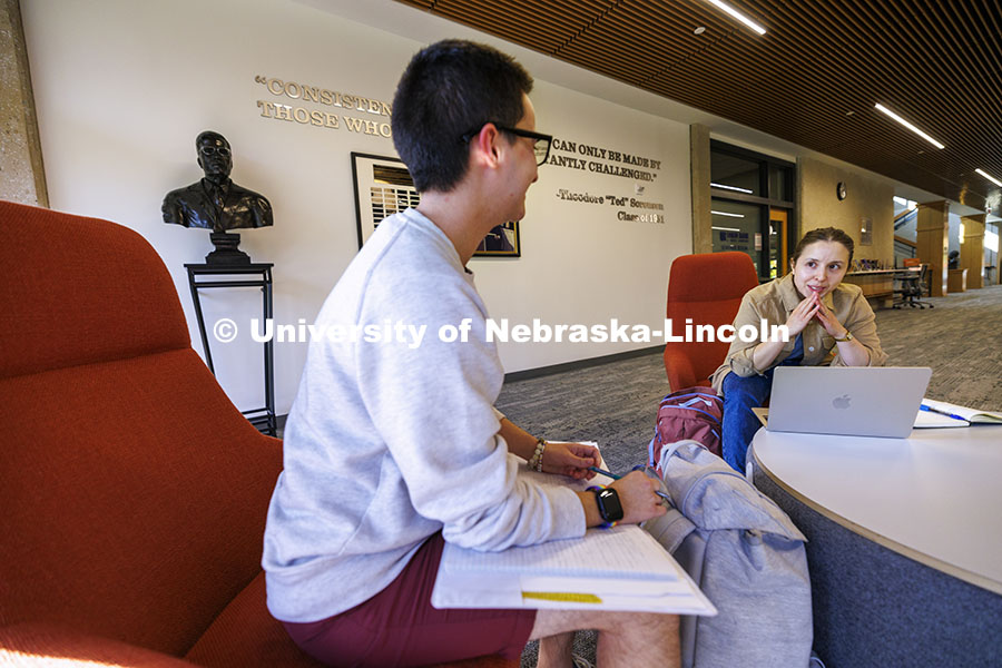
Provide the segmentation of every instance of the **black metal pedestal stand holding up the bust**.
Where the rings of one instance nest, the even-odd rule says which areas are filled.
[[[198,333],[202,334],[202,347],[205,350],[205,362],[209,371],[215,375],[213,353],[208,345],[208,334],[205,331],[205,317],[202,314],[202,301],[198,291],[208,287],[259,287],[262,292],[262,313],[264,320],[272,318],[272,267],[271,263],[253,263],[245,265],[210,265],[186,264],[188,269],[188,285],[191,287],[191,299],[195,302],[195,317],[198,320]],[[259,276],[256,279],[244,281],[198,281],[197,276]],[[259,431],[274,436],[277,435],[275,420],[275,342],[266,341],[264,344],[264,372],[265,372],[265,405],[263,409],[243,411],[247,420]]]

